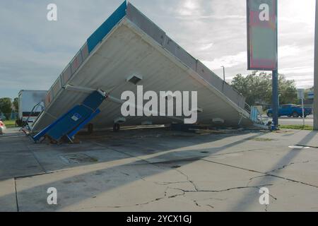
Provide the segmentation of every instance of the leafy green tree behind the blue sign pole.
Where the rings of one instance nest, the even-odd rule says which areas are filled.
[[[257,71],[253,71],[247,76],[238,74],[232,80],[232,87],[247,98],[246,102],[248,105],[255,105],[261,102],[270,105],[271,85],[271,74],[265,72],[258,73]],[[281,105],[296,103],[298,101],[295,81],[286,80],[285,76],[280,74],[278,85]]]

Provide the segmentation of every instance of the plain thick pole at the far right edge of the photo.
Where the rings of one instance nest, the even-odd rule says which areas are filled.
[[[314,131],[318,131],[318,2],[316,0],[316,25],[314,30]]]

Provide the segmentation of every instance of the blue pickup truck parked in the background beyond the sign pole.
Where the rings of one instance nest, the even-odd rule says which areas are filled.
[[[305,108],[305,117],[312,114],[311,108]],[[273,109],[267,111],[268,117],[273,117]],[[298,105],[281,105],[279,106],[278,116],[288,116],[288,117],[302,117],[302,107]]]

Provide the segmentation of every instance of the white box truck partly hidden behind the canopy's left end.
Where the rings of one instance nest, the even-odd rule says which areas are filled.
[[[18,126],[23,126],[27,122],[32,124],[44,108],[45,90],[21,90],[19,98],[19,119]],[[28,121],[27,121],[28,120]]]

